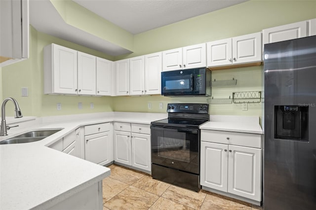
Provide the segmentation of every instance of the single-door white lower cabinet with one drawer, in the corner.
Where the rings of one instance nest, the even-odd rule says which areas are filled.
[[[113,161],[111,127],[111,123],[84,126],[85,160],[102,166]]]

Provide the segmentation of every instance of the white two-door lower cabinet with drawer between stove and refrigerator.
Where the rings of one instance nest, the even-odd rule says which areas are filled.
[[[215,135],[218,136],[218,133]],[[211,133],[203,134],[203,131],[201,132],[201,185],[260,202],[261,148],[244,146],[246,141],[240,138],[238,142],[239,138],[234,138],[233,132],[222,133],[223,135],[232,133],[232,136],[225,138],[228,143],[222,143],[223,140],[205,139],[206,136],[210,137]],[[260,137],[260,135],[257,136]],[[220,141],[220,143],[207,142],[212,140]],[[230,140],[237,141],[239,145],[229,144]],[[254,140],[261,141],[261,138]]]

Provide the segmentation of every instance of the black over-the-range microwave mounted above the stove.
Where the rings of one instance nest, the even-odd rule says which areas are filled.
[[[163,96],[211,96],[211,71],[206,68],[161,72]]]

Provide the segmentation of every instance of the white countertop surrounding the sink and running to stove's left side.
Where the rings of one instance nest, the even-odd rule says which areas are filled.
[[[19,129],[10,129],[0,140],[31,130],[63,130],[36,142],[0,145],[0,210],[47,209],[110,175],[106,167],[46,147],[80,126],[112,121],[150,124],[166,117],[138,112],[30,117],[27,126],[20,123]]]

